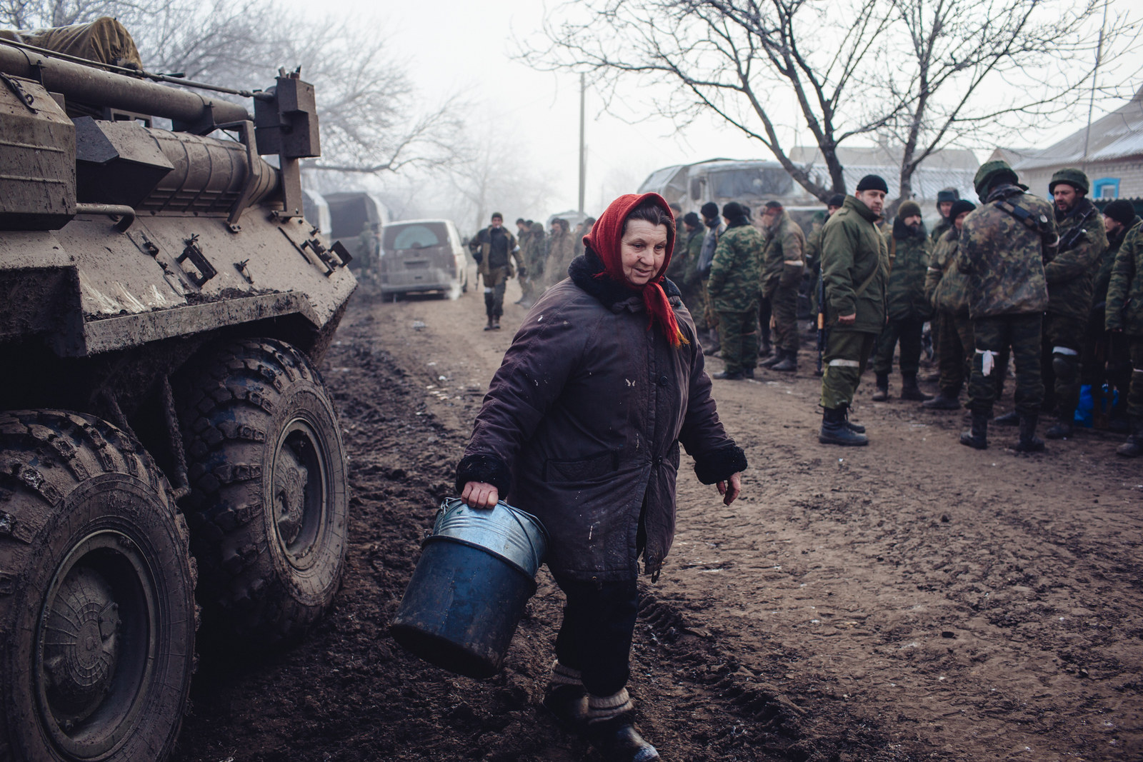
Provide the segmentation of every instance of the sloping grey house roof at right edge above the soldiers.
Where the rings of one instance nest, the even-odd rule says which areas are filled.
[[[1031,152],[1009,163],[1020,171],[1126,157],[1143,159],[1143,87],[1126,104],[1092,122],[1090,130],[1085,126],[1042,151]]]

